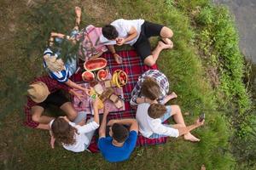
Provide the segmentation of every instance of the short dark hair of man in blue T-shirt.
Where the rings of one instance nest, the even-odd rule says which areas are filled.
[[[115,139],[119,143],[125,142],[125,140],[129,135],[127,128],[119,123],[113,123],[112,133],[113,133],[113,136],[112,136],[113,139]]]

